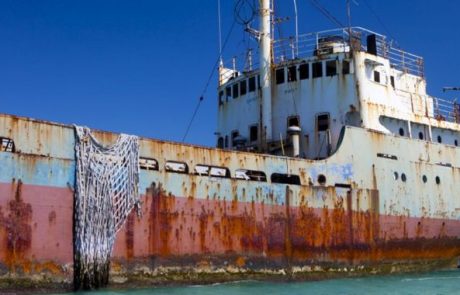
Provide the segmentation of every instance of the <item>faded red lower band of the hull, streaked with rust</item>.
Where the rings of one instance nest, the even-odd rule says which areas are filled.
[[[117,234],[113,251],[117,261],[154,256],[167,263],[184,256],[206,260],[232,255],[369,262],[460,254],[456,238],[460,222],[455,220],[159,193],[142,196],[142,203],[142,217],[132,212]],[[0,263],[30,269],[34,263],[63,266],[73,262],[70,189],[2,183],[0,207]]]

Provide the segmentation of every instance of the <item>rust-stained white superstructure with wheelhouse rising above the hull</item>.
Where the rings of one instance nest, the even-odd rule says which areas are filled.
[[[298,40],[273,40],[268,87],[251,54],[220,68],[218,147],[293,155],[293,126],[308,159],[336,151],[344,126],[458,146],[459,105],[426,93],[422,57],[359,27]]]

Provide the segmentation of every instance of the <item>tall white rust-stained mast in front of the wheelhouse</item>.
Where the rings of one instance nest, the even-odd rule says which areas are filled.
[[[272,90],[271,90],[271,9],[270,0],[259,0],[260,4],[260,88],[262,92],[262,134],[265,144],[272,140]]]

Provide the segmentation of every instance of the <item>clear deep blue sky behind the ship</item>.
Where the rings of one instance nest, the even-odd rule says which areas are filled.
[[[223,35],[235,0],[222,1]],[[317,0],[346,23],[345,0]],[[291,0],[277,14],[293,17]],[[297,0],[299,31],[336,25]],[[384,26],[368,9],[378,15]],[[218,56],[217,0],[0,1],[0,112],[180,141]],[[460,86],[460,1],[355,0],[353,25],[424,56],[428,92]],[[293,22],[283,24],[286,34]],[[236,25],[224,55],[245,47]],[[215,144],[214,76],[187,142]]]

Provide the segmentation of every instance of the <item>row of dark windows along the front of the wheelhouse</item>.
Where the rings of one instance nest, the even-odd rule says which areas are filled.
[[[332,77],[338,74],[337,72],[337,60],[328,60],[325,62],[319,61],[311,63],[311,76],[312,78],[323,77],[323,63],[325,63],[325,73],[327,77]],[[310,63],[304,62],[300,65],[294,65],[287,68],[279,68],[275,71],[276,84],[283,84],[286,82],[285,72],[287,71],[287,81],[294,82],[297,80],[306,80],[310,78]],[[346,75],[350,73],[350,62],[348,60],[342,61],[342,74]],[[228,86],[225,88],[225,92],[221,90],[219,92],[219,104],[229,101],[231,98],[236,99],[240,96],[246,95],[247,93],[256,91],[256,80],[257,85],[260,87],[260,76],[253,76],[249,79],[244,79],[240,82]]]

